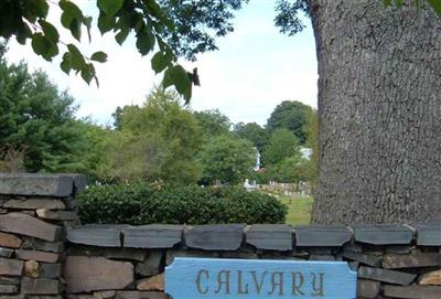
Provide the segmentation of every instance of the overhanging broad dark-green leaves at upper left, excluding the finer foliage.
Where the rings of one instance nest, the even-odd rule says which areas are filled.
[[[83,26],[87,30],[90,40],[92,17],[83,14],[82,10],[72,1],[61,0],[58,6],[62,10],[61,23],[71,31],[78,42],[82,41]],[[18,42],[24,44],[28,39],[32,40],[33,51],[46,61],[52,61],[58,55],[58,46],[64,44],[60,41],[58,30],[47,21],[50,6],[44,0],[28,1],[2,1],[0,2],[0,36],[9,39],[15,35]],[[130,32],[136,35],[136,46],[141,55],[153,51],[158,44],[159,52],[163,54],[162,65],[172,70],[172,85],[185,97],[191,97],[192,82],[185,71],[175,63],[172,49],[163,42],[165,28],[173,30],[173,23],[165,18],[162,10],[154,0],[98,0],[99,11],[98,29],[101,34],[114,30],[115,38],[122,44]],[[31,28],[30,28],[31,25]],[[107,55],[98,51],[90,57],[84,55],[78,47],[69,43],[63,54],[61,68],[65,73],[75,71],[80,73],[83,79],[88,84],[96,76],[94,62],[106,62]],[[152,61],[155,66],[157,62]],[[165,68],[165,67],[163,67]],[[157,68],[158,70],[158,68]]]

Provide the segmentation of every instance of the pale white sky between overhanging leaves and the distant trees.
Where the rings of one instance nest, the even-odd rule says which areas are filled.
[[[76,2],[85,14],[94,11],[95,1]],[[217,40],[218,51],[201,54],[194,63],[181,61],[187,70],[197,67],[201,78],[201,86],[193,87],[193,110],[219,109],[233,122],[263,126],[282,100],[299,100],[316,108],[318,71],[310,21],[305,19],[303,32],[283,35],[273,25],[273,0],[251,0],[236,12],[235,31]],[[50,20],[56,23],[60,13],[52,11]],[[162,74],[154,75],[151,56],[141,57],[133,40],[119,46],[111,34],[101,36],[93,30],[92,35],[92,43],[83,38],[78,47],[88,54],[99,50],[108,54],[108,62],[96,63],[99,87],[87,85],[74,74],[67,76],[60,70],[60,57],[46,62],[32,52],[30,43],[22,46],[11,42],[8,60],[24,60],[31,70],[42,68],[76,99],[77,117],[108,125],[118,106],[141,105]],[[61,30],[61,36],[71,42],[67,32]]]

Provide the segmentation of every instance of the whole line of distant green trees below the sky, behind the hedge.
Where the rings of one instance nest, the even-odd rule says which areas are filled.
[[[68,93],[44,72],[9,64],[6,51],[0,44],[0,171],[82,172],[100,182],[315,181],[315,159],[300,152],[316,152],[316,113],[304,104],[282,102],[261,127],[217,109],[192,111],[178,93],[154,87],[104,127],[77,119]]]

